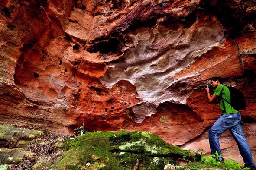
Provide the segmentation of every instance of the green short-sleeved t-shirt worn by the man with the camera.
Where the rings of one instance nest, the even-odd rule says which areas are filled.
[[[227,86],[225,85],[218,85],[217,88],[214,91],[214,94],[216,96],[219,96],[219,105],[220,105],[220,109],[222,111],[223,114],[230,114],[230,113],[237,113],[239,111],[235,110],[230,104],[227,103],[227,101],[230,102],[230,92],[229,89],[227,88]],[[223,100],[223,98],[225,98],[227,101]],[[225,105],[225,110],[223,107],[223,101],[224,101],[224,105]]]

